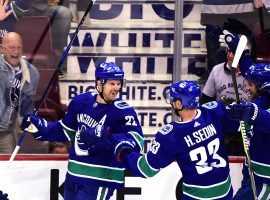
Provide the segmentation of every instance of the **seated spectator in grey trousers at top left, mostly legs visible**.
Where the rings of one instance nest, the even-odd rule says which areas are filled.
[[[52,25],[53,47],[63,53],[67,45],[72,14],[69,8],[58,5],[59,0],[32,0],[31,9],[27,12],[30,16],[48,16]],[[66,63],[62,67],[66,71]],[[60,72],[59,76],[63,76]]]

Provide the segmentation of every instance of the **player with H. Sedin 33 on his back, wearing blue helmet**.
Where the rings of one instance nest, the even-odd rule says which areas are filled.
[[[135,152],[128,140],[109,137],[115,143],[116,159],[132,174],[152,177],[176,161],[183,175],[183,200],[229,200],[233,189],[223,132],[238,129],[239,123],[227,118],[225,106],[219,101],[198,107],[200,95],[194,81],[170,86],[166,99],[179,120],[163,126],[144,155]]]

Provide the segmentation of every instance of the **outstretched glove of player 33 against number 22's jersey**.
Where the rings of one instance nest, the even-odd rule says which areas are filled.
[[[115,135],[112,135],[112,138],[115,143],[114,155],[115,155],[116,161],[121,162],[122,161],[121,156],[124,153],[135,150],[136,144],[133,140],[119,139],[119,138],[116,138]]]

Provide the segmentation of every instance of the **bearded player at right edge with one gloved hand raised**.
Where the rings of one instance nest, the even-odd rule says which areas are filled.
[[[223,44],[226,42],[226,45],[235,52],[239,41],[238,35],[228,31],[224,31],[224,33],[225,35],[221,36],[221,42],[223,42]],[[240,69],[241,73],[243,73],[248,80],[247,89],[253,103],[251,104],[253,105],[252,110],[255,112],[255,107],[258,107],[258,109],[270,108],[270,66],[267,63],[254,64],[249,57],[248,51],[249,50],[246,49],[241,56]],[[242,105],[234,105],[233,108],[237,110],[238,106],[240,108],[242,107]],[[239,113],[235,112],[233,116],[243,114],[240,108]],[[254,170],[257,194],[259,199],[270,199],[270,168],[266,167],[270,165],[270,159],[267,156],[263,156],[265,152],[268,152],[270,135],[263,134],[262,131],[258,130],[255,126],[253,128],[251,127],[248,133],[247,136],[250,143],[249,153]],[[243,180],[241,187],[234,196],[234,199],[253,199],[250,176],[246,163],[242,173]]]

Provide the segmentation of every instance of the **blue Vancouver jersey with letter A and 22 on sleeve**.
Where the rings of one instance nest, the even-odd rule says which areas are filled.
[[[80,148],[81,131],[97,124],[110,127],[112,134],[123,134],[133,139],[136,150],[143,148],[143,135],[134,109],[121,99],[111,104],[99,104],[94,93],[76,96],[69,104],[68,111],[60,122],[49,124],[43,140],[71,140],[67,179],[77,183],[94,184],[120,188],[124,183],[124,167],[116,162],[114,146],[105,146],[106,151],[88,155]]]

